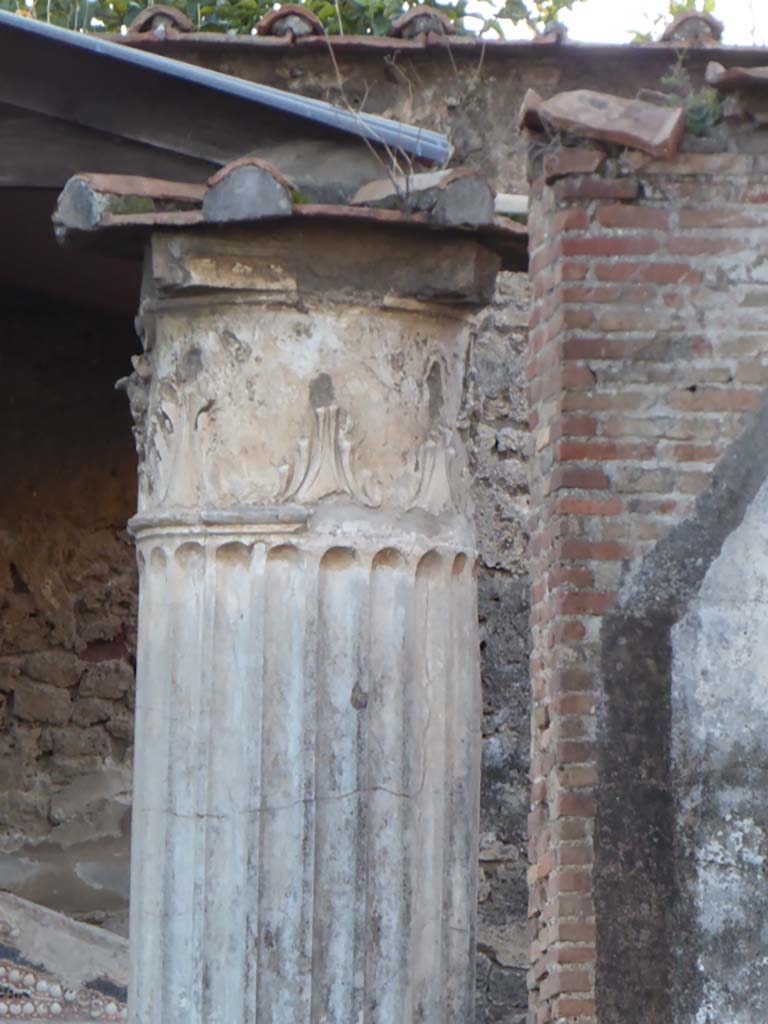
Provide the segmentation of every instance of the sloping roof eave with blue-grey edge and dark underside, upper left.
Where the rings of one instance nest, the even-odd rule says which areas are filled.
[[[5,11],[0,67],[5,103],[213,163],[230,160],[233,144],[246,153],[264,136],[356,136],[436,164],[451,153],[439,132]]]

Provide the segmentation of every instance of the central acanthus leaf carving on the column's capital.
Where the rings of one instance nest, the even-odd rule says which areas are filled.
[[[349,438],[351,424],[342,423],[338,406],[315,408],[309,437],[299,441],[298,457],[285,469],[280,502],[316,502],[331,495],[349,495],[361,505],[377,508],[381,498],[370,473],[355,472]]]

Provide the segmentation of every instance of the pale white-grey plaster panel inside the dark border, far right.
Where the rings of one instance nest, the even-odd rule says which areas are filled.
[[[676,1024],[768,1017],[766,551],[768,484],[672,631]]]

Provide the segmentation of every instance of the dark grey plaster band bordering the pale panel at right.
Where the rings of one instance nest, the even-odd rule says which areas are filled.
[[[659,541],[628,575],[616,606],[603,620],[594,882],[597,998],[602,1024],[626,1024],[628,1020],[633,1024],[762,1024],[766,1018],[764,1010],[741,1019],[730,1010],[725,1017],[696,1018],[696,1014],[707,1013],[710,998],[700,968],[707,942],[697,916],[697,867],[691,854],[695,844],[686,846],[683,842],[682,829],[688,822],[682,817],[682,805],[675,805],[680,785],[672,768],[671,691],[673,628],[684,623],[688,614],[705,613],[692,602],[768,476],[767,432],[768,403],[764,401],[721,459],[693,514]],[[728,554],[723,558],[727,563]],[[751,558],[757,560],[754,548]],[[736,595],[742,572],[738,564],[732,571],[731,593]],[[757,584],[752,591],[741,589],[742,596],[753,592],[761,592]],[[754,603],[757,606],[759,602]],[[743,628],[743,615],[736,615],[735,621]],[[712,623],[706,632],[711,642],[717,643],[717,624]],[[721,649],[727,662],[731,645]],[[707,671],[715,669],[709,656],[702,653],[701,657]],[[743,685],[740,677],[744,671],[743,667],[734,668],[728,677],[730,685],[722,673],[713,671],[711,685],[722,694],[711,715],[713,721],[722,725],[721,708],[732,698],[730,691]],[[729,713],[730,709],[724,712]],[[744,707],[742,716],[750,714]],[[714,738],[708,739],[702,750],[709,751]],[[676,737],[676,753],[680,742]],[[744,782],[739,764],[749,761],[748,748],[738,751],[733,744],[730,754],[723,755],[730,759],[727,771],[733,773],[732,784],[736,786]],[[696,763],[696,758],[690,762],[692,786],[700,781]],[[724,777],[725,769],[723,766]],[[753,805],[754,800],[749,811],[740,808],[738,814],[744,817]],[[708,815],[718,819],[720,813],[715,802]],[[730,957],[728,970],[733,982],[729,984],[738,984],[746,991],[746,982],[738,981],[739,957],[733,955],[737,947],[730,933],[727,937],[720,933],[723,965]],[[754,986],[754,982],[749,985]],[[721,1000],[721,1012],[724,1005]]]

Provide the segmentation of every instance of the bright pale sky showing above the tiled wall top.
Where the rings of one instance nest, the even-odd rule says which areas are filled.
[[[660,30],[654,27],[654,18],[669,11],[669,0],[580,0],[571,11],[561,15],[561,20],[568,27],[571,40],[628,43],[635,32],[651,31],[657,38]],[[490,9],[481,0],[470,4],[470,9],[485,7]],[[715,16],[725,26],[724,43],[768,46],[768,0],[718,0]],[[524,27],[510,28],[505,34],[511,38],[528,36]]]

